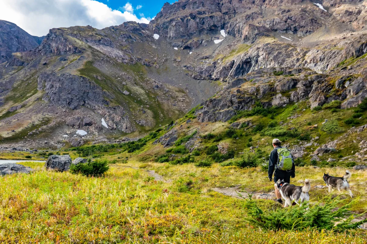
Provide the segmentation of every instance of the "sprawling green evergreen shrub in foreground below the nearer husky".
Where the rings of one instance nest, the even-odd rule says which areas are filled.
[[[367,222],[367,219],[352,222],[356,216],[353,216],[350,208],[352,204],[356,203],[356,200],[347,203],[346,200],[340,200],[340,198],[332,199],[329,195],[322,202],[324,204],[303,204],[302,206],[262,210],[258,202],[250,196],[250,199],[244,200],[244,207],[248,215],[245,220],[252,226],[275,231],[306,228],[342,231],[357,229],[359,225]]]

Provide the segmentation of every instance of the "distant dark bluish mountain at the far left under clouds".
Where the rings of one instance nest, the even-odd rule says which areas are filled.
[[[28,34],[14,23],[0,20],[0,63],[8,61],[12,53],[36,48],[43,38]]]

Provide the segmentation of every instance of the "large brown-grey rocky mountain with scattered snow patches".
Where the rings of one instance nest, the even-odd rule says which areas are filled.
[[[200,122],[256,102],[355,107],[367,93],[366,20],[362,0],[180,0],[149,25],[51,29],[0,65],[0,136],[79,146],[141,136],[198,104]]]

